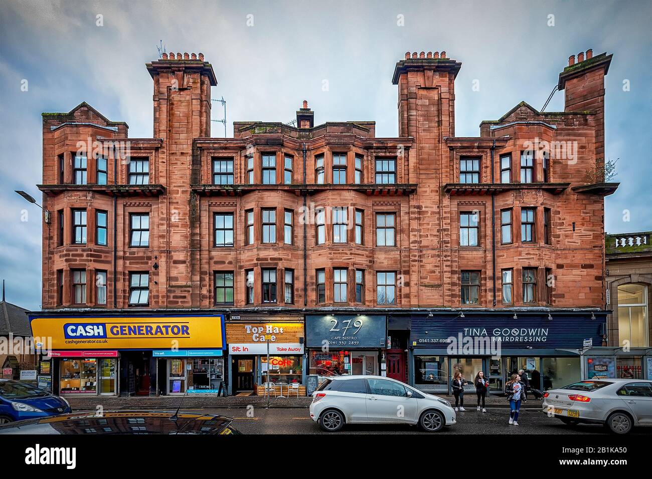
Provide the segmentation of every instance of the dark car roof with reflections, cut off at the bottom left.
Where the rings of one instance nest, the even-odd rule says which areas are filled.
[[[84,411],[13,422],[0,434],[240,434],[232,418],[171,411]]]

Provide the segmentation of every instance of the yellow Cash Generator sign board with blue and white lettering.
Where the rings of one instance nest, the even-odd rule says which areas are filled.
[[[224,317],[35,317],[32,330],[52,337],[52,349],[224,347]]]

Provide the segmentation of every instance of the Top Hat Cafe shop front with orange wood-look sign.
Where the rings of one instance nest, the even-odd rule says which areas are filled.
[[[226,341],[229,394],[306,395],[303,321],[230,321]]]

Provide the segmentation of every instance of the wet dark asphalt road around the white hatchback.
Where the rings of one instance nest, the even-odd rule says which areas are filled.
[[[234,418],[233,426],[243,434],[331,434],[321,431],[310,419],[308,409],[198,409],[202,413],[222,414]],[[548,418],[538,411],[523,411],[518,426],[510,426],[509,409],[488,408],[487,413],[478,413],[475,408],[458,413],[457,424],[440,431],[440,434],[589,434],[606,433],[602,426],[580,424],[565,426],[560,420]],[[248,414],[249,413],[249,414]],[[348,434],[427,434],[408,425],[351,425],[340,433]],[[634,434],[647,434],[648,430],[634,430]]]

